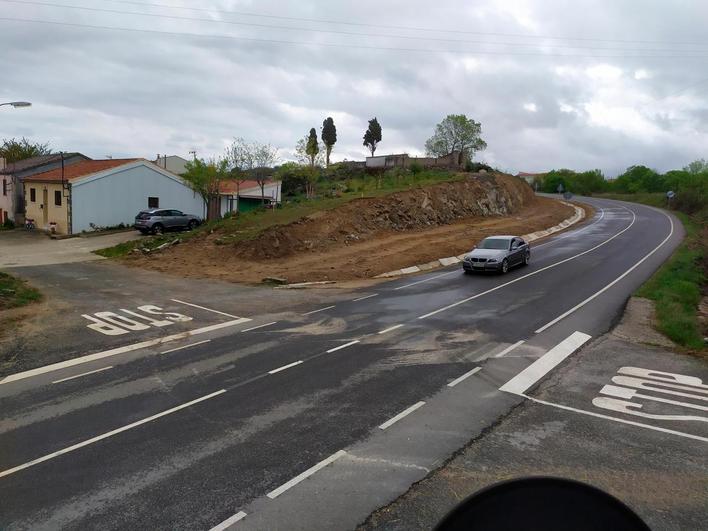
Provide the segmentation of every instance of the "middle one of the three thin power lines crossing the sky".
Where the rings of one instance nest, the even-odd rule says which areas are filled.
[[[288,31],[306,31],[315,33],[326,33],[326,34],[336,34],[336,35],[347,35],[356,37],[381,37],[389,39],[405,39],[412,41],[437,41],[446,43],[456,43],[456,44],[474,44],[474,45],[492,45],[492,46],[514,46],[514,47],[530,47],[530,46],[543,46],[544,48],[554,48],[554,49],[587,49],[587,50],[603,50],[603,51],[618,51],[618,52],[659,52],[659,53],[700,53],[708,52],[708,50],[677,50],[677,49],[666,49],[666,48],[636,48],[636,49],[626,49],[626,48],[616,48],[616,47],[598,47],[598,46],[582,46],[582,45],[565,45],[565,44],[532,44],[532,43],[521,43],[521,42],[489,42],[489,41],[471,41],[471,40],[461,40],[461,39],[446,39],[440,37],[414,37],[411,35],[390,35],[382,33],[361,33],[361,32],[350,32],[350,31],[340,31],[340,30],[330,30],[330,29],[320,29],[320,28],[301,28],[294,26],[278,26],[273,24],[257,24],[253,22],[241,22],[232,20],[214,20],[211,18],[197,18],[197,17],[184,17],[176,15],[165,15],[160,13],[145,13],[136,11],[123,11],[119,9],[107,9],[99,7],[88,7],[88,6],[77,6],[68,4],[58,4],[54,2],[42,2],[36,0],[0,0],[6,3],[14,3],[20,5],[35,5],[43,7],[55,7],[55,8],[65,8],[65,9],[76,9],[82,11],[90,11],[95,13],[110,13],[118,15],[131,15],[131,16],[143,16],[159,19],[171,19],[171,20],[186,20],[190,22],[207,22],[211,24],[228,24],[233,26],[250,26],[266,29],[278,29],[278,30],[288,30]]]

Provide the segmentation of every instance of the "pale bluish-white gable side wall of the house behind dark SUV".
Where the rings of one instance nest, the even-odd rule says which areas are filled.
[[[91,230],[91,223],[99,227],[132,225],[135,215],[148,208],[148,197],[158,197],[160,208],[204,217],[199,194],[179,177],[168,177],[151,166],[146,162],[119,167],[73,183],[72,231]]]

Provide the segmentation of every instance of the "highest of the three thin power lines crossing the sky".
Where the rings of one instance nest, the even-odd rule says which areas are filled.
[[[271,15],[264,13],[253,13],[246,11],[229,11],[223,9],[210,9],[203,7],[188,7],[188,6],[177,6],[170,4],[159,4],[154,2],[135,2],[131,0],[108,0],[117,4],[129,4],[137,5],[142,7],[163,7],[167,9],[177,9],[177,10],[187,10],[187,11],[199,11],[204,13],[218,13],[220,15],[239,15],[245,17],[259,17],[259,18],[270,18],[278,20],[292,20],[300,22],[313,22],[321,24],[340,24],[344,26],[358,26],[358,27],[369,27],[369,28],[379,28],[379,29],[397,29],[405,31],[426,31],[433,33],[455,33],[455,34],[466,34],[466,35],[486,35],[490,37],[520,37],[520,38],[530,38],[530,39],[551,39],[551,40],[565,40],[565,41],[590,41],[590,42],[616,42],[616,43],[629,43],[629,44],[680,44],[686,46],[706,46],[708,42],[686,42],[686,41],[656,41],[656,40],[632,40],[632,39],[605,39],[605,38],[594,38],[594,37],[569,37],[569,36],[552,36],[552,35],[533,35],[528,33],[500,33],[500,32],[483,32],[483,31],[472,31],[472,30],[457,30],[450,28],[426,28],[426,27],[416,27],[416,26],[398,26],[398,25],[384,25],[384,24],[370,24],[363,22],[352,22],[345,20],[328,20],[321,18],[304,18],[304,17],[292,17],[284,15]]]

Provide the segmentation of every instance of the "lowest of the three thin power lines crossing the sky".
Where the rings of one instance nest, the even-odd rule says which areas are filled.
[[[325,43],[325,42],[305,42],[305,41],[292,41],[284,39],[263,39],[256,37],[242,37],[238,35],[227,35],[227,34],[215,34],[215,33],[192,33],[192,32],[181,32],[181,31],[164,31],[164,30],[152,30],[152,29],[142,29],[142,28],[126,28],[120,26],[103,26],[98,24],[79,24],[76,22],[60,22],[53,20],[38,20],[38,19],[26,19],[26,18],[16,18],[16,17],[0,17],[0,21],[6,22],[24,22],[30,24],[45,24],[54,26],[66,26],[75,28],[87,28],[95,30],[109,30],[109,31],[127,31],[133,33],[146,33],[146,34],[157,34],[157,35],[168,35],[168,36],[180,36],[180,37],[196,37],[203,39],[229,39],[238,41],[248,41],[255,43],[265,43],[265,44],[287,44],[287,45],[297,45],[297,46],[314,46],[314,47],[326,47],[326,48],[350,48],[350,49],[362,49],[362,50],[375,50],[375,51],[398,51],[398,52],[419,52],[419,53],[449,53],[449,54],[462,54],[462,55],[493,55],[493,56],[541,56],[541,57],[574,57],[574,58],[601,58],[601,59],[704,59],[708,58],[708,54],[702,55],[597,55],[597,54],[560,54],[560,53],[546,53],[546,52],[510,52],[510,51],[491,51],[491,50],[451,50],[451,49],[431,49],[431,48],[402,48],[402,47],[392,47],[392,46],[367,46],[359,44],[341,44],[341,43]]]

